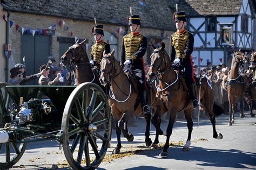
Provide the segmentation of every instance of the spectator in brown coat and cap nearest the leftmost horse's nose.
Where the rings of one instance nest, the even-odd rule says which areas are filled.
[[[57,77],[51,81],[51,79],[48,77],[50,74],[50,67],[46,68],[46,65],[42,65],[40,66],[40,72],[42,72],[43,70],[45,70],[45,72],[43,72],[43,74],[40,76],[39,80],[38,80],[38,84],[40,86],[45,86],[45,85],[56,85],[59,82],[59,78],[60,78],[60,73],[57,75]]]

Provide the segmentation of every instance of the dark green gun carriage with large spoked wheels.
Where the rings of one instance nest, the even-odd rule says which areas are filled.
[[[100,164],[112,128],[106,95],[97,84],[6,85],[0,83],[0,168],[15,165],[28,143],[42,140],[56,140],[63,146],[73,169],[91,169]],[[96,100],[100,100],[98,105]]]

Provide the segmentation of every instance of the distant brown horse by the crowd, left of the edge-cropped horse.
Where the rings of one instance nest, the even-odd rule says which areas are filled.
[[[247,56],[239,51],[234,51],[234,55],[231,62],[231,69],[228,73],[228,79],[227,79],[227,94],[228,94],[228,102],[230,103],[230,118],[228,121],[228,126],[232,126],[234,123],[234,112],[235,112],[235,102],[237,98],[240,99],[240,117],[245,117],[244,115],[244,107],[242,105],[242,97],[244,96],[244,92],[248,90],[248,80],[247,77],[243,74],[238,75],[238,69],[239,65],[242,65],[243,63],[247,62]],[[251,98],[248,96],[248,105],[251,107]],[[251,117],[254,117],[255,115],[251,112]]]

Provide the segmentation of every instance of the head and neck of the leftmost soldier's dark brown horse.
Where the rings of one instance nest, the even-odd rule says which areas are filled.
[[[85,39],[86,40],[86,39]],[[91,65],[86,53],[85,40],[69,47],[69,49],[62,55],[63,65],[71,65],[76,67],[75,85],[78,86],[84,82],[93,82],[100,86],[97,74],[93,73]]]

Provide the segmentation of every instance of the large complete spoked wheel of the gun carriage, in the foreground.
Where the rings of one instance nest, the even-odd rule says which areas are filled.
[[[111,112],[104,91],[95,83],[80,84],[69,96],[62,118],[63,150],[70,166],[97,168],[107,151],[111,129]]]

